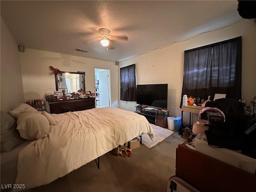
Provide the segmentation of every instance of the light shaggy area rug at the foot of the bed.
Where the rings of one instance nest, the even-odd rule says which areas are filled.
[[[170,136],[171,134],[174,133],[173,131],[171,131],[169,129],[165,129],[160,126],[156,126],[154,124],[150,124],[150,125],[152,126],[152,129],[155,134],[154,140],[151,140],[150,137],[148,136],[148,134],[142,134],[142,145],[144,145],[145,147],[147,147],[149,149],[156,146],[156,144],[163,141],[168,136]]]

